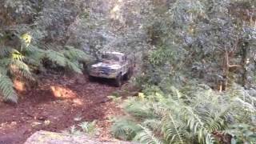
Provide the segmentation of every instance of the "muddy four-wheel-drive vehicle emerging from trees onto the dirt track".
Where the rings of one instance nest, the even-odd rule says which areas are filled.
[[[134,59],[120,52],[104,52],[100,60],[88,67],[90,79],[114,79],[115,86],[122,85],[122,79],[130,79],[134,70]]]

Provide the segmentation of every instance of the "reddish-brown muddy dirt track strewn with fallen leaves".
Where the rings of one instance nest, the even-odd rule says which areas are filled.
[[[84,75],[50,74],[41,79],[36,88],[21,92],[16,106],[0,102],[0,144],[22,144],[37,130],[61,132],[93,120],[102,130],[99,138],[110,138],[108,118],[122,112],[107,96],[119,88],[89,82]]]

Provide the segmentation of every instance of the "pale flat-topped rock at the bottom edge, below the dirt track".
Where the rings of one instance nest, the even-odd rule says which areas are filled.
[[[59,134],[49,131],[38,131],[30,136],[24,144],[132,144],[132,142],[100,142],[86,135]]]

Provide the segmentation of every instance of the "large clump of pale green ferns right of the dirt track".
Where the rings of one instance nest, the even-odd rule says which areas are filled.
[[[214,143],[218,142],[215,133],[242,140],[242,134],[231,129],[234,123],[255,126],[254,98],[244,95],[241,87],[226,93],[189,87],[172,87],[169,94],[151,89],[127,99],[122,105],[127,116],[114,121],[114,136],[142,143]],[[246,130],[243,134],[249,135],[243,142],[254,142],[255,130]]]

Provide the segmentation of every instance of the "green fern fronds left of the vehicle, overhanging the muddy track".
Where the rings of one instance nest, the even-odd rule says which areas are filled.
[[[66,70],[82,74],[82,64],[80,62],[86,62],[88,59],[88,56],[82,50],[77,50],[72,46],[66,46],[66,49],[58,51],[40,49],[30,44],[31,38],[28,33],[18,37],[20,42],[18,48],[3,45],[8,39],[4,36],[1,38],[0,90],[6,101],[18,101],[12,82],[14,78],[25,78],[34,81],[34,72],[44,70],[44,66],[49,64],[51,68],[62,66]]]

